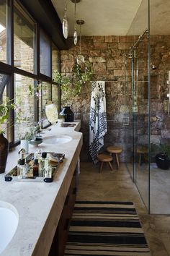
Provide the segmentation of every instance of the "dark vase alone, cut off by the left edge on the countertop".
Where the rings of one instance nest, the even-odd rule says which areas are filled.
[[[3,133],[0,134],[0,174],[5,172],[6,161],[9,152],[9,142],[4,137]]]

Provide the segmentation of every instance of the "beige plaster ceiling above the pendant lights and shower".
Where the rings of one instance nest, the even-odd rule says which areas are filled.
[[[65,0],[51,0],[63,22]],[[170,34],[170,0],[151,1],[151,33]],[[74,8],[66,0],[69,36],[73,35]],[[81,0],[76,20],[84,20],[81,35],[140,35],[148,27],[148,0]],[[79,25],[78,25],[79,32]]]

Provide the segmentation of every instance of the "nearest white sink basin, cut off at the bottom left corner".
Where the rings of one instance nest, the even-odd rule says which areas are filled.
[[[12,240],[18,221],[16,208],[8,202],[0,201],[0,254]]]

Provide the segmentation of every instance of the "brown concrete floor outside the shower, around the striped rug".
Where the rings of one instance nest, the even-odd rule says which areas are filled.
[[[148,215],[124,163],[120,164],[118,171],[115,168],[114,172],[104,165],[102,173],[99,173],[99,164],[81,162],[77,199],[132,201],[142,223],[151,255],[170,255],[170,216]]]

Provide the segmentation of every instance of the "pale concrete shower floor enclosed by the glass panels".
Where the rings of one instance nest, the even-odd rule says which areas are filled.
[[[130,175],[133,176],[133,166],[127,164]],[[143,198],[145,205],[148,205],[148,164],[143,163],[136,168],[136,185]],[[162,170],[151,163],[150,168],[150,212],[153,214],[170,214],[170,171]]]

